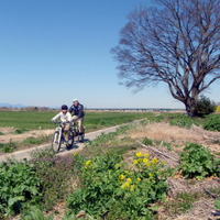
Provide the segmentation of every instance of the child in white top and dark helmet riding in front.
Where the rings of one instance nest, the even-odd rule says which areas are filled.
[[[52,119],[52,122],[56,121],[57,119],[61,119],[62,121],[65,141],[68,142],[68,131],[70,129],[72,114],[68,112],[68,107],[66,105],[62,106],[62,111]]]

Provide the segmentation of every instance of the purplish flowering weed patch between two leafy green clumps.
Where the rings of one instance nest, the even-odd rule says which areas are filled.
[[[34,155],[31,163],[42,182],[44,208],[50,210],[69,190],[75,161],[73,155],[54,156],[50,152],[38,156]]]

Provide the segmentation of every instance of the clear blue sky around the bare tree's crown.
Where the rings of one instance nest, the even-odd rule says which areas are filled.
[[[110,50],[135,7],[150,0],[0,0],[0,102],[183,108],[164,85],[119,85]],[[205,94],[220,101],[216,82]]]

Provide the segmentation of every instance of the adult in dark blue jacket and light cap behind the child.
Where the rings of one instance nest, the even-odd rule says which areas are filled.
[[[78,122],[78,128],[79,128],[79,135],[81,136],[80,141],[84,140],[84,106],[79,103],[78,99],[73,100],[73,106],[69,108],[69,113],[73,113],[72,121],[73,122]]]

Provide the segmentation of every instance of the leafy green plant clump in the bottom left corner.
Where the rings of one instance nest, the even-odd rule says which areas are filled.
[[[0,165],[0,211],[6,216],[19,213],[28,204],[42,198],[41,179],[33,165],[13,161]]]

